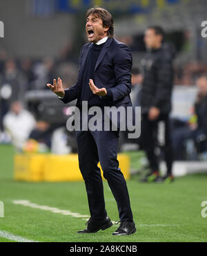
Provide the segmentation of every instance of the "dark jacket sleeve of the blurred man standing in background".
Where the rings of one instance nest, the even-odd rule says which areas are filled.
[[[172,60],[163,56],[157,60],[157,88],[152,106],[161,109],[166,100],[171,100],[173,83]]]

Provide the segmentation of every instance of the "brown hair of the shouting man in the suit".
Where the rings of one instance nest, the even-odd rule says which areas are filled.
[[[86,12],[86,18],[88,16],[93,15],[95,17],[98,17],[99,19],[102,19],[103,21],[103,27],[108,27],[108,37],[113,38],[114,37],[114,21],[112,18],[112,15],[108,10],[101,8],[99,6],[95,6],[93,8],[90,8]]]

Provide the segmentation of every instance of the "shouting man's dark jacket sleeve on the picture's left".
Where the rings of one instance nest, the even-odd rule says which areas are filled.
[[[69,87],[68,89],[65,89],[65,95],[63,98],[59,98],[62,102],[68,103],[72,100],[76,100],[78,98],[78,95],[81,91],[81,72],[80,72],[80,66],[81,66],[81,59],[82,59],[82,51],[83,48],[81,48],[81,53],[79,57],[79,73],[78,73],[78,79],[77,83]]]

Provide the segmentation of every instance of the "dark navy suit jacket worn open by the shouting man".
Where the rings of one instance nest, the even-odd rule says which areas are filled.
[[[81,49],[78,80],[76,84],[65,90],[65,96],[61,99],[64,103],[77,99],[77,107],[81,106],[82,86],[86,86],[83,84],[83,73],[91,45],[91,43],[85,44]],[[112,94],[110,99],[107,96],[97,96],[103,106],[132,107],[130,100],[131,68],[132,55],[128,46],[117,39],[108,38],[95,65],[93,81],[99,89],[104,87]]]

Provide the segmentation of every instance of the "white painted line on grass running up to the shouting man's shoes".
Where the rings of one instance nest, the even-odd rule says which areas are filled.
[[[50,207],[47,205],[39,205],[37,203],[31,203],[28,200],[14,200],[14,201],[12,201],[12,203],[20,204],[23,206],[28,206],[30,208],[36,208],[36,209],[40,209],[40,210],[48,210],[49,212],[60,213],[63,215],[70,215],[75,218],[81,218],[81,219],[84,218],[84,220],[87,220],[87,221],[88,221],[88,219],[85,219],[85,218],[90,218],[90,216],[79,214],[78,212],[70,212],[70,210],[60,210],[59,208]]]

